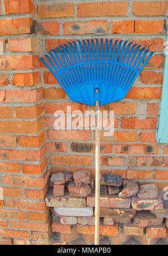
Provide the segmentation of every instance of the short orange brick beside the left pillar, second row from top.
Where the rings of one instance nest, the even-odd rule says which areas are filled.
[[[39,34],[40,35],[58,35],[59,21],[39,22]]]

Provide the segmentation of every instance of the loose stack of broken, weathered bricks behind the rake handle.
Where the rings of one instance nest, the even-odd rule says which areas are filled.
[[[53,174],[51,181],[53,188],[45,202],[52,211],[52,228],[60,243],[71,244],[79,237],[82,244],[94,243],[95,192],[90,171]],[[139,186],[133,180],[107,173],[101,174],[100,183],[100,236],[115,244],[132,235],[142,244],[166,238],[168,207],[164,192],[156,184]]]

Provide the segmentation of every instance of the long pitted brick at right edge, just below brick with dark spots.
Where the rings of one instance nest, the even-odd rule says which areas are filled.
[[[168,166],[168,157],[165,156],[130,156],[130,166]]]

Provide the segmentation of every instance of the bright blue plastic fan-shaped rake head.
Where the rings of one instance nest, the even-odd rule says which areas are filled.
[[[147,53],[127,40],[87,39],[59,45],[41,59],[71,100],[104,105],[125,97],[153,54]]]

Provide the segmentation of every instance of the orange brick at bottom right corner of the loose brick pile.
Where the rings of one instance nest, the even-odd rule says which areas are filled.
[[[166,237],[165,225],[147,227],[146,236],[148,238],[165,238]]]

